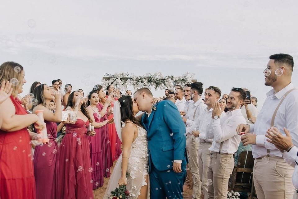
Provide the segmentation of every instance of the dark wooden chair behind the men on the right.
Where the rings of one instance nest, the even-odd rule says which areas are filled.
[[[239,154],[237,165],[234,167],[229,179],[229,186],[235,192],[252,191],[252,172],[254,158],[251,151],[244,150]]]

